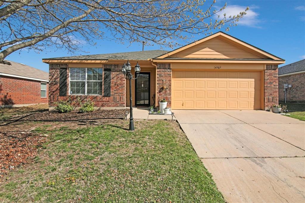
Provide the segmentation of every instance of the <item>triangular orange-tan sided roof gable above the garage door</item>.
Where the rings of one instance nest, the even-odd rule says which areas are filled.
[[[217,32],[155,59],[165,58],[283,60],[223,32]]]

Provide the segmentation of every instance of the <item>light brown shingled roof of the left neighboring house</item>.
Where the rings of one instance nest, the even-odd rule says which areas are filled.
[[[49,73],[33,68],[31,66],[23,65],[21,63],[9,61],[12,65],[6,65],[0,63],[0,73],[6,73],[11,75],[23,76],[23,77],[31,77],[42,80],[49,80]]]

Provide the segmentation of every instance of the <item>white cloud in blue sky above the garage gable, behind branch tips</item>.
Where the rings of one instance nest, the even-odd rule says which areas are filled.
[[[221,12],[217,13],[218,15],[220,15],[220,18],[224,15],[224,13],[226,14],[227,17],[229,16],[236,16],[237,14],[239,14],[242,11],[245,11],[247,7],[246,6],[240,6],[240,5],[228,5],[224,10],[222,10]],[[255,11],[253,11],[253,9],[257,9],[258,6],[252,5],[249,6],[249,10],[246,11],[246,15],[243,16],[238,22],[238,25],[244,25],[244,26],[248,26],[248,27],[257,27],[257,28],[261,28],[258,24],[260,23],[260,20],[258,19],[259,14]]]

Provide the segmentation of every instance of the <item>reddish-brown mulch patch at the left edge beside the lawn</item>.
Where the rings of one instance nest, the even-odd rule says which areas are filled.
[[[0,181],[9,172],[35,157],[47,134],[34,132],[0,132]]]

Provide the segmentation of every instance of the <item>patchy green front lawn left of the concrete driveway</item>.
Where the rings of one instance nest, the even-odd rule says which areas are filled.
[[[176,122],[135,127],[119,120],[41,131],[50,140],[34,163],[6,175],[0,202],[224,202]]]

